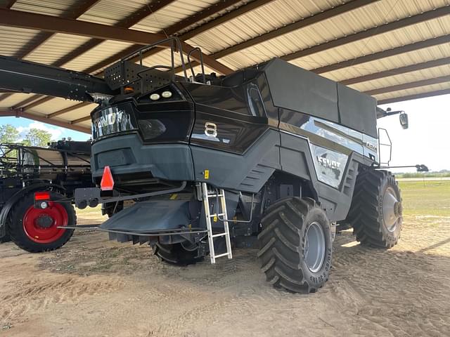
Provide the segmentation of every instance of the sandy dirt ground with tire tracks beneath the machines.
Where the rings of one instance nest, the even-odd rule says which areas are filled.
[[[342,232],[309,295],[273,289],[252,250],[174,267],[99,232],[43,254],[1,244],[0,336],[450,336],[449,205],[406,214],[389,251]]]

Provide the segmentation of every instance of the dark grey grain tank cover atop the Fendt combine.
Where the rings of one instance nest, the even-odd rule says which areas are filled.
[[[262,70],[276,107],[328,119],[378,138],[375,98],[279,58],[267,62]]]

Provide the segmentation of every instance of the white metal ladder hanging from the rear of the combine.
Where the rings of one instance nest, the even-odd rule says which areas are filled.
[[[226,213],[226,202],[225,202],[225,191],[223,189],[215,190],[216,192],[210,194],[208,191],[207,183],[202,183],[202,194],[203,194],[203,206],[205,208],[206,217],[206,228],[208,232],[208,243],[210,244],[210,257],[211,263],[216,263],[216,258],[221,258],[222,256],[228,256],[228,258],[233,258],[231,254],[231,241],[230,241],[230,230],[228,225],[228,215]],[[217,194],[219,193],[219,194]],[[219,213],[219,207],[214,214],[210,213],[210,198],[220,199],[221,213]],[[212,234],[212,224],[211,219],[219,219],[224,223],[224,232]],[[214,252],[214,237],[225,237],[226,242],[226,253],[217,254]]]

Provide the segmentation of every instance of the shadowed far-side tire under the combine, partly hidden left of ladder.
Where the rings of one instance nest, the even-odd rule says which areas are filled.
[[[172,265],[195,265],[203,260],[198,257],[198,246],[193,244],[160,244],[152,245],[153,254],[160,260]]]

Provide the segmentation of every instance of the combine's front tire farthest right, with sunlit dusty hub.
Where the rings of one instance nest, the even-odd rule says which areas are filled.
[[[379,248],[397,244],[402,210],[399,185],[392,173],[375,170],[359,173],[347,216],[357,241]]]

